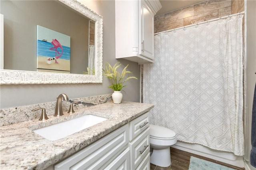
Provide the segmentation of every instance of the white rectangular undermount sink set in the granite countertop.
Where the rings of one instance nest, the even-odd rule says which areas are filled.
[[[106,119],[107,118],[105,117],[88,114],[50,126],[42,127],[40,129],[35,129],[33,131],[50,141],[55,141],[86,129],[92,125],[96,125],[97,123],[100,123]]]

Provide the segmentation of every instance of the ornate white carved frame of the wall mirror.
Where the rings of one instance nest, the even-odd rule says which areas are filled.
[[[59,0],[82,15],[95,21],[95,74],[65,74],[0,69],[0,84],[81,84],[102,83],[102,16],[76,0]]]

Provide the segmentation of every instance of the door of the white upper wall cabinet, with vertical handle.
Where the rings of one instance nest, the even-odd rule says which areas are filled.
[[[154,14],[144,0],[141,1],[140,55],[154,59]]]

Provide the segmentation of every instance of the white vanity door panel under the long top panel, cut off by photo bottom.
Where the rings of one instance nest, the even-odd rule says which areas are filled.
[[[127,148],[113,162],[111,162],[106,170],[130,170],[130,149]]]

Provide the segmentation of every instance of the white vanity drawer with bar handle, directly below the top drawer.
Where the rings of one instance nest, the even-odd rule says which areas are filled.
[[[149,128],[143,131],[140,136],[134,139],[134,141],[132,141],[129,145],[131,150],[131,169],[134,170],[149,153]]]

